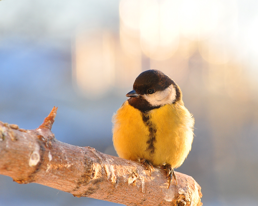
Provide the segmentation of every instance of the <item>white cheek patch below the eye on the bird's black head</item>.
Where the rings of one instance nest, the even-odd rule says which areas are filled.
[[[172,104],[176,99],[176,90],[174,85],[166,88],[163,91],[158,91],[153,94],[142,95],[152,106],[161,106],[165,104]]]

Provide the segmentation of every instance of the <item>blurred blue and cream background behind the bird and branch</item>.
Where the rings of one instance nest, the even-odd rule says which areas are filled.
[[[135,78],[169,75],[195,117],[176,171],[204,205],[257,205],[258,2],[0,1],[0,121],[116,155],[111,118]],[[0,175],[0,205],[119,205]]]

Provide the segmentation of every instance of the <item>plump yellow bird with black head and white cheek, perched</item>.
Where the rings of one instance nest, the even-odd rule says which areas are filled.
[[[184,106],[179,86],[159,70],[139,74],[129,97],[112,117],[114,148],[119,157],[141,162],[150,171],[166,170],[168,188],[175,168],[188,156],[195,119]]]

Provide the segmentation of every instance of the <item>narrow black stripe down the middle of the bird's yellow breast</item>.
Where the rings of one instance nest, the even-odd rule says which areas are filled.
[[[146,151],[149,151],[151,154],[155,152],[154,143],[156,142],[156,126],[153,122],[150,121],[149,112],[142,112],[142,120],[144,124],[149,128],[149,139],[147,143]]]

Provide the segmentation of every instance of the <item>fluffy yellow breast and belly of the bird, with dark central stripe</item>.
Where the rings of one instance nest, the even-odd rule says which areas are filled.
[[[124,102],[113,116],[113,142],[121,158],[145,158],[154,166],[179,167],[191,150],[194,119],[183,104],[146,113]]]

